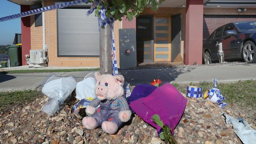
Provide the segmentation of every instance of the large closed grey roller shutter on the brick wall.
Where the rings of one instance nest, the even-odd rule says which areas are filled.
[[[57,10],[58,57],[99,57],[98,18],[89,8],[70,7]]]

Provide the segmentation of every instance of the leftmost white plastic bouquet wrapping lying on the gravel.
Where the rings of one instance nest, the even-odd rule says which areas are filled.
[[[60,106],[76,88],[76,80],[72,76],[52,79],[54,79],[54,76],[46,81],[42,89],[42,93],[51,98],[44,105],[42,111],[50,115],[54,115],[60,109]]]

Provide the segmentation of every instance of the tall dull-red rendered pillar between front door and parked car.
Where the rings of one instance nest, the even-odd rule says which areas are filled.
[[[203,0],[187,0],[185,64],[202,64]]]

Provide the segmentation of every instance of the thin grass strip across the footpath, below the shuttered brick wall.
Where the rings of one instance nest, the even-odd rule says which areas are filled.
[[[61,69],[61,70],[8,70],[0,72],[0,74],[7,73],[40,73],[40,72],[83,72],[83,71],[98,71],[100,68],[83,68],[83,69]]]

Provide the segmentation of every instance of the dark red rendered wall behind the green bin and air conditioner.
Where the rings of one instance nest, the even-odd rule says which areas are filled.
[[[30,6],[20,5],[20,12],[29,11]],[[31,49],[30,43],[30,17],[22,17],[21,18],[21,43],[22,43],[22,65],[26,65],[25,63],[25,54],[30,54],[29,51]]]

